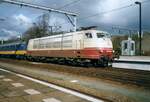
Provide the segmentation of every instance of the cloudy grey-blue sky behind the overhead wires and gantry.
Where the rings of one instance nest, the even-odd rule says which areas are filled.
[[[113,33],[112,27],[123,27],[138,29],[138,6],[134,4],[136,0],[20,0],[38,5],[48,6],[65,11],[76,12],[78,14],[77,25],[100,26],[101,30]],[[69,4],[73,1],[71,5]],[[148,1],[148,0],[138,0]],[[121,10],[116,8],[133,5]],[[113,10],[113,11],[111,11]],[[150,30],[150,2],[142,4],[143,29]],[[19,36],[33,25],[37,17],[48,13],[47,11],[35,10],[27,7],[0,3],[0,39]],[[95,14],[99,15],[95,15]],[[50,13],[50,25],[61,25],[62,29],[69,30],[72,25],[67,17],[62,14]],[[95,15],[95,16],[91,16]],[[89,18],[87,18],[90,16]],[[117,33],[117,32],[116,32]]]

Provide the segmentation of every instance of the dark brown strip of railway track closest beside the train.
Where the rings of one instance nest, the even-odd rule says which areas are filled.
[[[7,63],[15,63],[17,65],[23,66],[33,66],[36,68],[46,68],[48,70],[60,71],[75,75],[89,76],[94,78],[106,79],[111,81],[120,82],[123,84],[132,84],[140,87],[150,89],[150,72],[142,70],[128,70],[128,69],[118,69],[118,68],[84,68],[84,67],[73,67],[66,65],[57,64],[32,64],[27,61],[18,60],[1,60]],[[51,67],[51,68],[49,68]]]

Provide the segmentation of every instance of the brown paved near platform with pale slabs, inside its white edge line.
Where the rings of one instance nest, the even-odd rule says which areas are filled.
[[[89,101],[0,70],[0,102]]]

